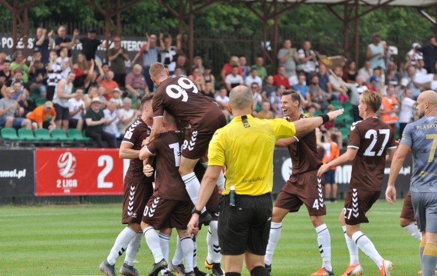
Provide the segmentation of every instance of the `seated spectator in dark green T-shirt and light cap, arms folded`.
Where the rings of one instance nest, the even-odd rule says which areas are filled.
[[[87,110],[85,115],[85,122],[87,124],[85,134],[93,139],[99,148],[105,147],[103,141],[108,143],[109,148],[116,148],[117,145],[114,137],[103,130],[107,119],[105,118],[105,114],[101,107],[102,102],[100,101],[100,98],[93,98],[91,101],[91,108]]]

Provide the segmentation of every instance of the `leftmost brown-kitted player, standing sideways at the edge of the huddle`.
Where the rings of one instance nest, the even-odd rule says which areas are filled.
[[[118,234],[108,258],[102,262],[100,269],[108,276],[115,275],[115,262],[126,250],[126,258],[120,269],[121,275],[139,275],[133,268],[138,249],[140,249],[141,218],[144,207],[153,193],[153,176],[143,173],[143,161],[139,159],[141,144],[150,135],[151,120],[148,109],[152,108],[152,94],[145,95],[141,100],[143,114],[125,132],[120,146],[120,158],[130,159],[129,168],[124,180],[123,218],[127,227]]]

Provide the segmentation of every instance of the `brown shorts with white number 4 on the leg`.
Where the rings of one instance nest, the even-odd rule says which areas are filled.
[[[317,169],[292,174],[279,192],[274,207],[297,212],[305,204],[309,215],[325,215],[324,190],[325,179],[317,177]]]

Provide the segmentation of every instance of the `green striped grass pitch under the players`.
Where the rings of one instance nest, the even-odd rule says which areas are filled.
[[[332,265],[335,275],[342,275],[349,263],[349,253],[338,222],[344,202],[328,203],[325,223],[331,234]],[[392,275],[416,275],[420,270],[419,242],[399,226],[402,201],[390,206],[378,201],[367,213],[370,224],[362,231],[383,258],[394,264]],[[103,275],[98,266],[107,257],[121,225],[121,204],[68,206],[0,207],[0,275]],[[176,242],[170,243],[170,259]],[[198,267],[207,254],[206,228],[197,239]],[[120,268],[124,255],[118,259]],[[141,275],[152,269],[153,258],[145,240],[135,267]],[[379,275],[378,267],[360,251],[364,275]],[[309,275],[321,266],[317,235],[305,207],[289,213],[281,239],[273,256],[272,275]],[[116,270],[118,273],[118,271]],[[250,275],[245,269],[242,275]]]

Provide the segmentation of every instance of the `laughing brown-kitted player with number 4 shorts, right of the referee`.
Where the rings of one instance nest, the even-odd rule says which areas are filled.
[[[282,92],[281,108],[288,121],[294,122],[305,118],[299,106],[301,97],[293,90]],[[311,275],[333,275],[331,266],[331,236],[323,216],[326,207],[323,202],[324,178],[317,177],[317,170],[322,165],[317,153],[315,130],[276,141],[275,146],[288,147],[291,156],[292,175],[280,191],[273,208],[269,243],[267,245],[265,264],[271,270],[273,252],[279,241],[282,220],[289,212],[299,211],[302,204],[308,209],[311,222],[317,233],[322,267]]]

